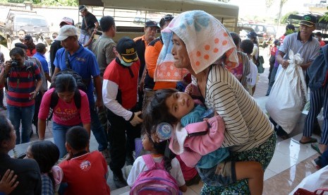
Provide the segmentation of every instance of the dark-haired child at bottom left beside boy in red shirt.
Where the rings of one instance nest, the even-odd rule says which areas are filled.
[[[58,191],[63,171],[55,166],[59,160],[59,149],[51,141],[36,141],[26,150],[26,157],[37,161],[41,172],[42,195],[51,195]]]

